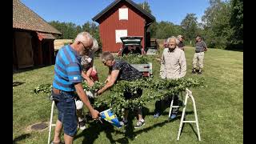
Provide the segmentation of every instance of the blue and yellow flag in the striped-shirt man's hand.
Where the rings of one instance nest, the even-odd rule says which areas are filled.
[[[118,121],[117,115],[113,114],[111,109],[102,111],[100,115],[104,120],[110,122],[113,126],[122,127],[122,125]]]

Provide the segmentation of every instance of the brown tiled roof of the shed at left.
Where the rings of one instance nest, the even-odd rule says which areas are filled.
[[[13,28],[62,34],[19,0],[13,0]]]

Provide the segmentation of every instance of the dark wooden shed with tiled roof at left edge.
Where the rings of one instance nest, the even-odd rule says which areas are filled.
[[[58,34],[38,14],[13,0],[13,69],[54,64],[54,39]]]

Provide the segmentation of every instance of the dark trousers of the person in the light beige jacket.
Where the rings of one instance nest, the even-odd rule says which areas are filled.
[[[162,112],[164,110],[166,110],[167,107],[170,107],[170,102],[172,100],[172,97],[174,97],[174,105],[173,106],[178,106],[178,94],[174,94],[173,96],[166,96],[166,98],[163,98],[160,101],[155,102],[154,106],[154,113],[160,113],[162,114]],[[171,114],[178,114],[178,107],[174,107],[172,109]]]

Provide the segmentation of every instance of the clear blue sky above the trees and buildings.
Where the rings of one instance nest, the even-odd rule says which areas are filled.
[[[101,12],[114,0],[20,0],[47,22],[73,22],[82,26]],[[180,25],[186,14],[194,13],[201,17],[210,0],[134,0],[136,3],[148,2],[150,10],[158,22],[169,21]]]

